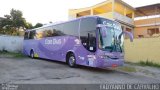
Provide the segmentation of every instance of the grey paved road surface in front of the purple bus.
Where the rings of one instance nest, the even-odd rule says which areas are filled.
[[[16,84],[99,84],[160,83],[151,77],[116,70],[102,70],[30,58],[0,58],[0,83]]]

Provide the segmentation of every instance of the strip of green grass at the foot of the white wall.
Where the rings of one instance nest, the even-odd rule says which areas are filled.
[[[26,56],[22,53],[14,53],[14,52],[7,52],[7,51],[0,51],[1,57],[11,57],[11,58],[25,58]]]

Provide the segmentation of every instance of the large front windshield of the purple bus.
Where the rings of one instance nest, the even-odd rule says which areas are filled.
[[[104,34],[104,35],[102,35]],[[99,28],[99,48],[110,52],[123,52],[123,35],[121,26],[112,23]]]

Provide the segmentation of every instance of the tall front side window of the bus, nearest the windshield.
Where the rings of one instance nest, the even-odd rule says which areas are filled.
[[[80,39],[83,46],[91,52],[96,51],[96,25],[94,18],[84,18],[80,24]]]

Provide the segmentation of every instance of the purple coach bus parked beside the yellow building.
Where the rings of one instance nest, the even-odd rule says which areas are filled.
[[[133,35],[126,32],[130,40]],[[99,16],[26,30],[23,53],[31,58],[107,68],[124,64],[124,32],[118,22]]]

